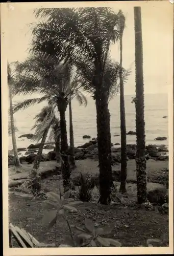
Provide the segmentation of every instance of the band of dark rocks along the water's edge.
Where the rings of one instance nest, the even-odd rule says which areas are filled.
[[[119,143],[116,143],[118,145]],[[18,155],[21,155],[21,152],[25,152],[24,156],[19,157],[21,163],[31,164],[34,162],[37,151],[39,148],[39,143],[31,144],[28,148],[18,148]],[[53,143],[45,143],[45,149],[51,150],[47,154],[42,154],[41,161],[55,161],[56,153]],[[120,163],[121,160],[121,147],[114,147],[111,143],[111,154],[112,154],[112,165]],[[127,145],[127,160],[135,159],[136,157],[136,144]],[[92,159],[98,160],[98,148],[97,148],[97,139],[93,138],[85,144],[75,147],[75,159]],[[150,144],[146,146],[146,159],[154,159],[158,161],[168,160],[168,148],[164,145]],[[14,164],[13,152],[9,151],[8,153],[8,163],[9,166]]]

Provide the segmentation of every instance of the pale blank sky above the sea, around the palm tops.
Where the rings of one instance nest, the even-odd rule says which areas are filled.
[[[77,6],[77,3],[72,3]],[[100,3],[102,2],[95,2],[95,6],[101,6]],[[121,9],[126,16],[122,65],[126,69],[132,69],[132,74],[125,85],[125,94],[133,95],[135,94],[133,6],[137,6],[137,2],[106,3],[114,12]],[[27,49],[30,47],[29,43],[32,39],[29,24],[37,21],[33,14],[33,8],[41,7],[41,4],[42,7],[51,7],[51,3],[9,4],[6,16],[9,62],[23,61],[28,57]],[[84,4],[85,2],[83,2],[83,6]],[[167,93],[168,86],[173,83],[173,6],[168,1],[138,1],[138,6],[141,6],[142,17],[144,93]],[[70,3],[68,7],[70,7]],[[110,55],[114,60],[119,61],[119,44],[111,46]]]

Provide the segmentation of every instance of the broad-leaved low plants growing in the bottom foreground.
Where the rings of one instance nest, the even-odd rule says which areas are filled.
[[[68,201],[70,192],[67,191],[63,200],[61,196],[49,192],[46,194],[47,199],[43,203],[43,208],[47,209],[47,213],[43,216],[42,225],[47,226],[48,228],[52,228],[59,216],[62,216],[67,223],[69,229],[69,236],[65,237],[65,243],[61,244],[59,247],[101,247],[101,246],[121,246],[121,243],[114,239],[104,238],[106,234],[111,233],[114,226],[112,227],[98,227],[95,228],[95,224],[89,220],[85,219],[85,227],[78,227],[70,225],[66,212],[74,212],[77,211],[75,205],[83,203],[82,201]],[[60,194],[61,195],[61,194]],[[39,246],[39,245],[38,245]],[[42,244],[43,246],[43,244]],[[45,245],[46,247],[47,245]],[[39,246],[40,247],[40,246]],[[56,245],[55,245],[56,247]]]

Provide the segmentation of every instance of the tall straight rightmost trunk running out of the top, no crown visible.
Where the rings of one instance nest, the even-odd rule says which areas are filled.
[[[145,158],[145,131],[144,131],[144,85],[143,85],[143,51],[141,7],[134,7],[135,22],[135,70],[136,70],[136,173],[137,173],[137,201],[146,202],[146,158]]]

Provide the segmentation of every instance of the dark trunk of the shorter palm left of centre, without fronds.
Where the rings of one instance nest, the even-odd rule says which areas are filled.
[[[58,103],[58,110],[60,113],[60,134],[61,134],[61,160],[62,160],[62,177],[64,191],[68,190],[71,169],[68,161],[68,140],[66,130],[66,118],[65,112],[67,108],[67,102],[63,98]]]

